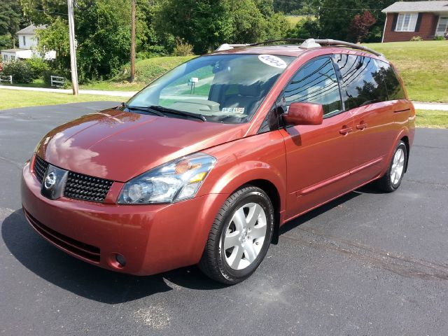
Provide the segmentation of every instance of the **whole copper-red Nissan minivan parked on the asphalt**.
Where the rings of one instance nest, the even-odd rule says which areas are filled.
[[[396,190],[414,120],[374,50],[223,45],[45,135],[23,169],[23,210],[93,265],[148,275],[198,264],[238,283],[279,226],[372,181]]]

